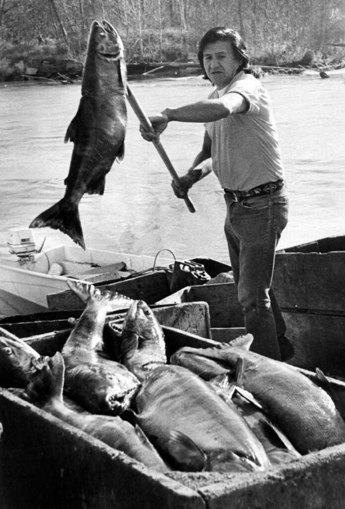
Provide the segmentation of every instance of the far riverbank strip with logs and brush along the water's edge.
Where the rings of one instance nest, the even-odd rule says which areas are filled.
[[[10,48],[7,48],[10,49]],[[64,47],[58,45],[39,45],[34,47],[13,47],[11,51],[0,53],[0,82],[44,80],[72,83],[80,80],[83,71],[84,55],[69,58]],[[254,72],[264,74],[301,74],[306,70],[328,72],[345,68],[345,50],[334,52],[321,58],[306,51],[300,59],[274,61],[264,56],[252,60]],[[193,62],[127,62],[129,77],[185,77],[202,74],[199,63]]]

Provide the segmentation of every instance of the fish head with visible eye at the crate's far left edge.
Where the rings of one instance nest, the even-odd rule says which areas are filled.
[[[30,376],[37,371],[39,358],[39,353],[19,338],[0,336],[0,385],[26,387]]]

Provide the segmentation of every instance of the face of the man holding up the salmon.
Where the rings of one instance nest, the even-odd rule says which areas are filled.
[[[208,78],[217,89],[222,89],[235,76],[241,61],[234,55],[230,42],[216,41],[205,46],[203,63]]]

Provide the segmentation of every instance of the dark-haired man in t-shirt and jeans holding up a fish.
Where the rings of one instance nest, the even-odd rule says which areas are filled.
[[[254,335],[252,350],[287,360],[293,348],[270,290],[275,248],[289,208],[270,97],[250,74],[237,32],[222,26],[209,30],[198,58],[215,90],[208,99],[150,117],[154,134],[143,127],[141,134],[150,141],[172,121],[205,124],[202,149],[180,187],[172,183],[174,192],[183,198],[213,169],[225,191],[225,234],[246,331]]]

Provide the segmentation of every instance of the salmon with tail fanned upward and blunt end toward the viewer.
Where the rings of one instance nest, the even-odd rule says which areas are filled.
[[[69,286],[86,307],[62,348],[66,393],[90,412],[118,415],[130,406],[139,380],[100,345],[107,312],[129,307],[132,299],[81,281],[70,280]]]

